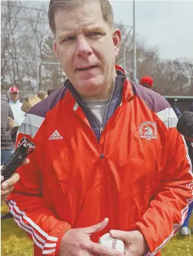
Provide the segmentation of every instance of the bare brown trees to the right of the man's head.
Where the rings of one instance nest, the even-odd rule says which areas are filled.
[[[126,71],[133,79],[133,34],[124,25],[117,27],[122,30],[122,46],[117,63],[124,66],[124,47],[126,56]],[[164,95],[186,95],[193,92],[192,64],[186,61],[162,61],[158,48],[148,48],[138,37],[136,40],[137,77],[152,76],[153,89]]]

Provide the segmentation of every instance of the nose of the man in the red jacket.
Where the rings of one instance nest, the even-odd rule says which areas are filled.
[[[88,40],[84,35],[80,35],[76,40],[76,56],[85,58],[91,56],[91,53],[92,49]]]

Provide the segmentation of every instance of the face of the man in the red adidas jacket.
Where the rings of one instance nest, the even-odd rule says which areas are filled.
[[[83,98],[100,99],[115,79],[120,30],[104,22],[99,2],[55,13],[54,50],[63,71]]]

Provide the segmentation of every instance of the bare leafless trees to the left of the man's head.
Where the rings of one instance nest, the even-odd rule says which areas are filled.
[[[52,65],[45,60],[44,48],[51,35],[47,19],[43,5],[35,9],[20,1],[1,3],[1,89],[7,90],[13,84],[24,94],[53,89],[51,81],[48,86],[48,77],[52,80],[55,72],[59,79],[61,71],[55,58]],[[48,55],[53,56],[53,49]]]

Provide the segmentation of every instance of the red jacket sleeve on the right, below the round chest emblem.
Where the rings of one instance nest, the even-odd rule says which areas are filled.
[[[170,123],[170,122],[169,122]],[[161,182],[140,222],[135,224],[148,242],[149,256],[156,255],[184,223],[193,200],[192,165],[187,146],[176,130],[169,127],[165,144],[165,167]]]

